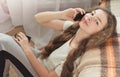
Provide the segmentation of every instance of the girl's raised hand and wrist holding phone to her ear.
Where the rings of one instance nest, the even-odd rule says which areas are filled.
[[[85,14],[85,10],[82,9],[82,8],[69,8],[69,9],[66,9],[66,10],[62,11],[61,14],[62,14],[63,19],[72,20],[73,21],[74,17],[79,12],[81,14]]]

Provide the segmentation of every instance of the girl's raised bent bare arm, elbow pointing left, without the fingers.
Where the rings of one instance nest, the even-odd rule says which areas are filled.
[[[36,21],[55,30],[63,30],[64,20],[73,21],[76,10],[73,8],[64,11],[47,11],[35,15]]]

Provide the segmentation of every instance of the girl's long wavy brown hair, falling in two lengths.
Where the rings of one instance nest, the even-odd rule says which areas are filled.
[[[116,18],[115,16],[107,9],[101,7],[95,7],[90,9],[88,12],[92,12],[93,10],[101,9],[107,15],[107,24],[106,27],[97,32],[90,37],[82,40],[79,43],[78,48],[72,49],[70,52],[72,54],[68,54],[66,61],[64,62],[63,69],[61,72],[61,77],[73,77],[74,70],[74,61],[83,55],[86,50],[99,47],[105,43],[105,41],[111,37],[114,33],[116,33]],[[73,24],[69,28],[67,28],[61,35],[57,36],[54,40],[50,41],[47,46],[42,49],[41,58],[47,58],[55,49],[59,48],[65,42],[70,40],[79,29],[78,24]]]

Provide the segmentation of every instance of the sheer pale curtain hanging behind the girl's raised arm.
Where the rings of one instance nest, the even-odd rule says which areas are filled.
[[[23,25],[27,35],[32,37],[36,46],[44,46],[57,35],[52,29],[37,24],[34,15],[41,11],[63,10],[66,8],[90,8],[98,5],[99,0],[6,0],[13,25]],[[4,26],[3,26],[4,27]],[[48,37],[49,36],[49,37]]]

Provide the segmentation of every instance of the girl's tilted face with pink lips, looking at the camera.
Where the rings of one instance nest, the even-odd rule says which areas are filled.
[[[103,10],[94,10],[86,15],[80,21],[80,29],[85,33],[92,35],[101,31],[107,24],[107,15]]]

